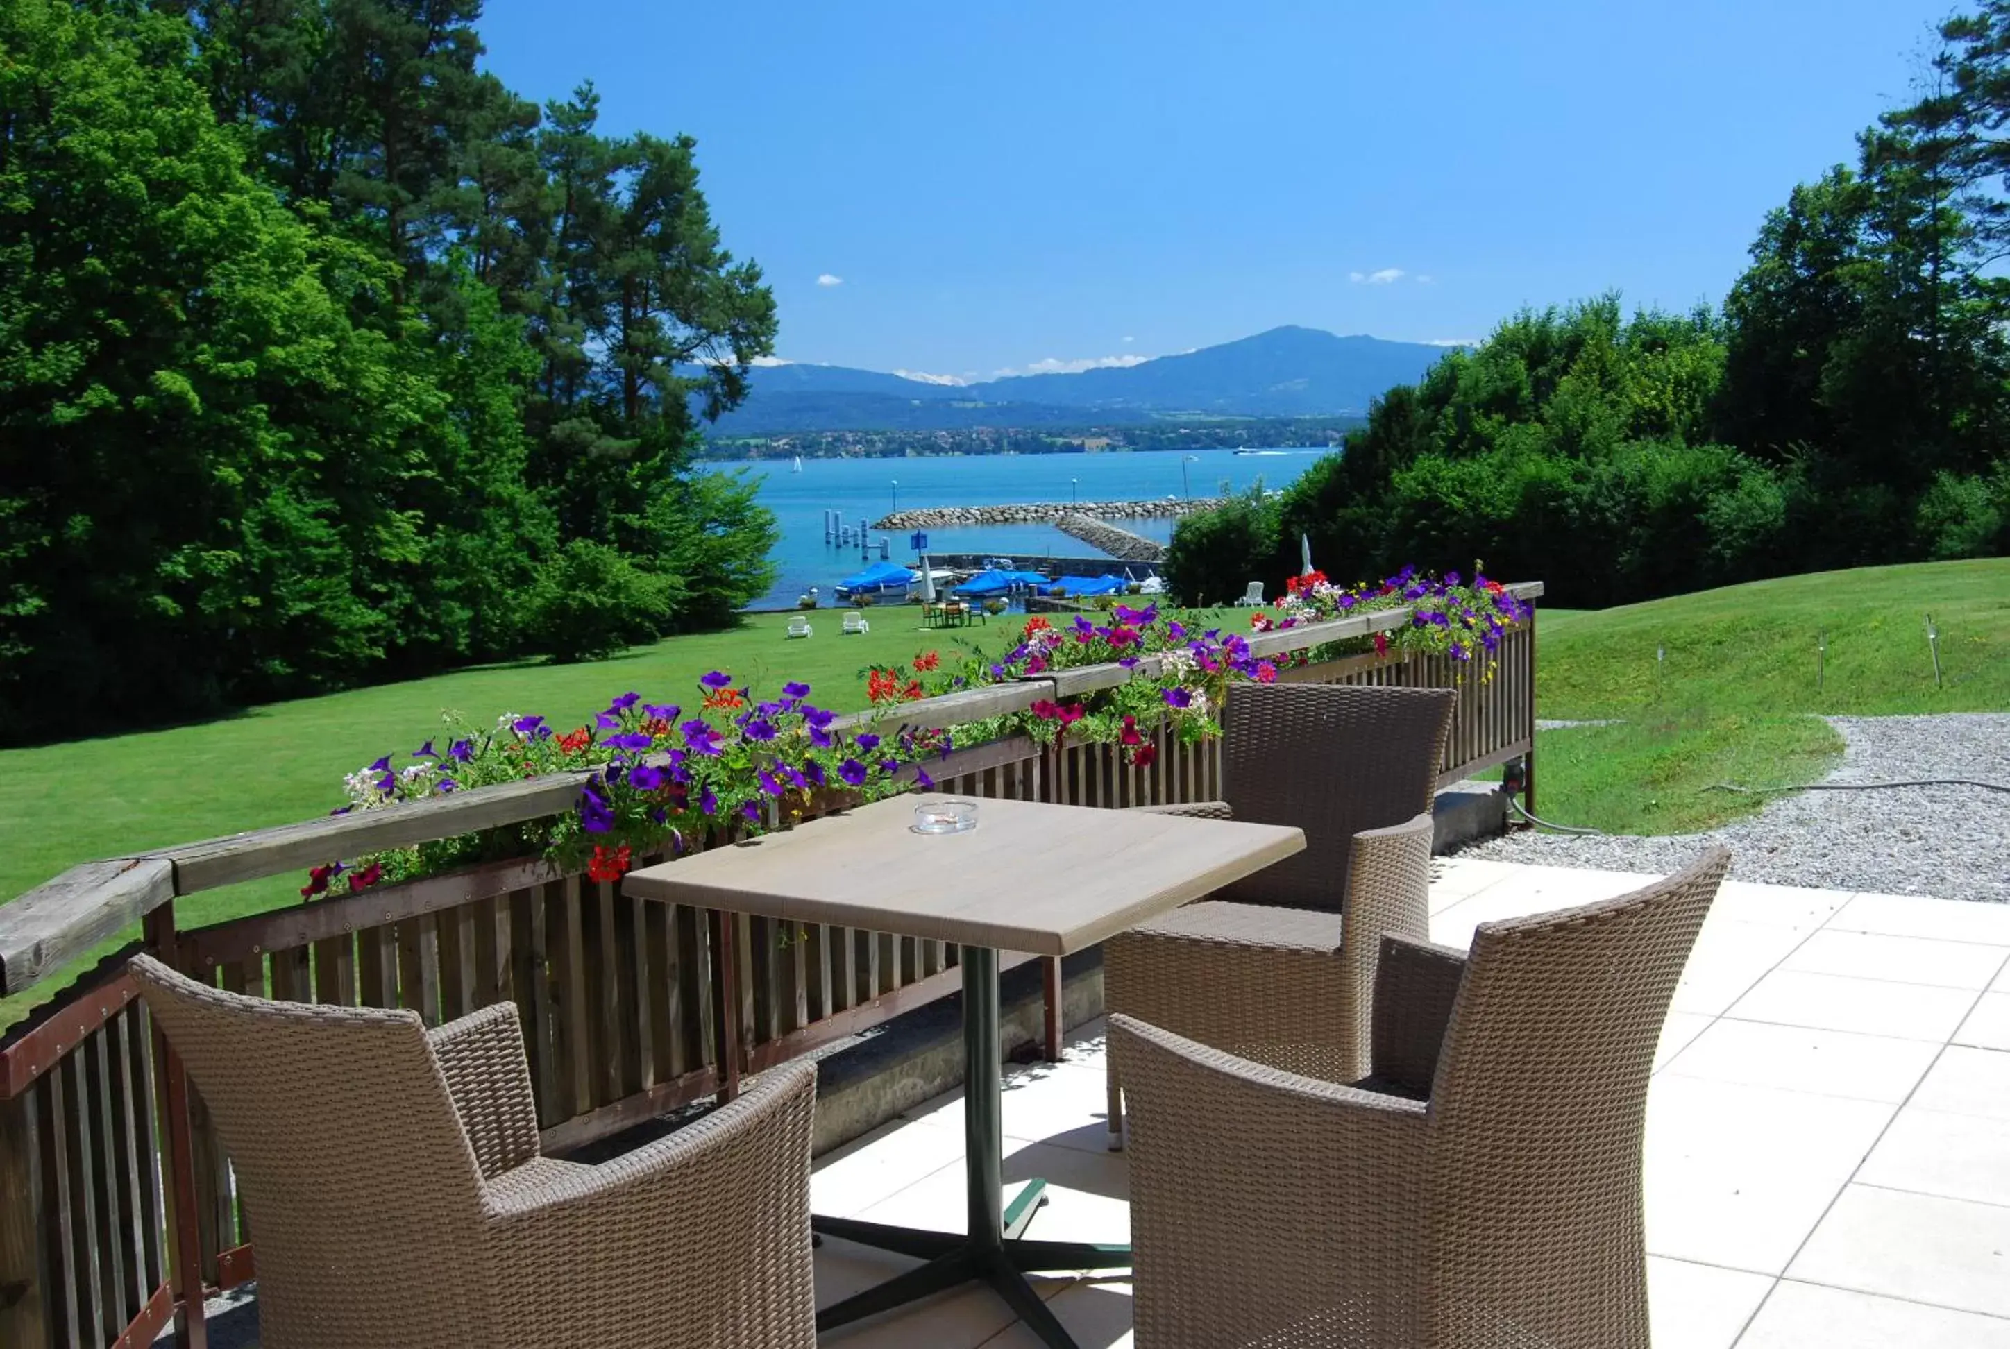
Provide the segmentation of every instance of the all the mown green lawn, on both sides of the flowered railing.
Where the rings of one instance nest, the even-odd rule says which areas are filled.
[[[1938,690],[1926,613],[1942,633]],[[316,816],[342,800],[342,774],[410,752],[442,710],[567,724],[625,690],[685,700],[708,669],[756,688],[806,680],[820,702],[848,710],[864,704],[868,663],[1003,641],[1001,625],[919,631],[898,605],[868,617],[862,637],[840,637],[834,611],[814,615],[808,641],[782,635],[786,615],[758,615],[589,665],[464,669],[173,730],[0,750],[0,899],[86,858]],[[1240,627],[1226,611],[1212,621]],[[1755,810],[1755,798],[1711,784],[1821,776],[1841,742],[1807,714],[2010,708],[2010,559],[1793,577],[1596,613],[1544,609],[1540,621],[1542,716],[1624,720],[1542,734],[1538,804],[1566,824],[1678,832]],[[1821,629],[1829,653],[1817,692]],[[1656,645],[1666,649],[1658,671]],[[181,901],[181,921],[269,909],[295,889],[275,877],[195,895]],[[0,1001],[0,1025],[26,1005],[26,995]]]

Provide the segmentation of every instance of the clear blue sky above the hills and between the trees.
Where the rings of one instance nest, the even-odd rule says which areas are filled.
[[[697,137],[792,360],[989,378],[1276,324],[1719,302],[1948,0],[490,0],[488,68]],[[1053,362],[1053,364],[1045,364]]]

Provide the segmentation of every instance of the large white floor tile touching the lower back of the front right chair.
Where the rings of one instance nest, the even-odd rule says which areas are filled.
[[[1646,1116],[1652,1255],[1777,1275],[1893,1108],[1660,1074]]]

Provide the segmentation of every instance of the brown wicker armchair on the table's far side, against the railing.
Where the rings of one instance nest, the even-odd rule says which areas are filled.
[[[1246,684],[1222,714],[1226,802],[1162,806],[1296,824],[1304,852],[1103,943],[1103,999],[1290,1072],[1367,1072],[1383,933],[1429,935],[1431,792],[1451,690]],[[1110,1078],[1110,1146],[1124,1142]]]

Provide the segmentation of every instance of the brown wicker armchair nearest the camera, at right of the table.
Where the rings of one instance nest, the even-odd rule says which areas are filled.
[[[1112,1017],[1140,1349],[1648,1349],[1648,1074],[1729,860],[1383,939],[1355,1086]]]

